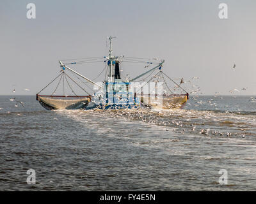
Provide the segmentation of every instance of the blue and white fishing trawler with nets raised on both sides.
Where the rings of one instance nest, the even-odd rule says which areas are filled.
[[[44,106],[47,110],[56,109],[124,109],[124,108],[141,108],[141,107],[154,107],[154,108],[180,108],[188,100],[189,94],[179,84],[177,84],[172,78],[168,77],[163,72],[164,60],[154,59],[152,61],[145,61],[145,58],[114,56],[112,41],[113,36],[108,38],[109,40],[109,54],[104,57],[88,57],[83,59],[76,59],[78,61],[65,60],[59,61],[61,67],[61,73],[54,80],[52,80],[47,86],[44,87],[38,94],[36,94],[36,100]],[[80,61],[79,61],[80,60]],[[105,79],[103,82],[93,82],[87,77],[81,75],[74,69],[68,67],[68,64],[84,64],[88,62],[99,62],[101,60],[105,64],[106,70]],[[148,60],[148,59],[147,59]],[[120,70],[120,64],[124,62],[136,62],[145,63],[148,71],[145,71],[141,75],[134,78],[122,77]],[[154,66],[153,68],[151,66]],[[103,71],[101,73],[103,73]],[[83,85],[74,78],[70,77],[68,73],[72,73],[80,82],[83,80],[86,83],[93,85],[93,93],[89,93],[84,87],[88,87],[86,83]],[[100,74],[101,74],[100,73]],[[153,77],[152,77],[153,75]],[[145,77],[145,78],[143,78]],[[150,78],[148,80],[148,78]],[[51,95],[41,94],[49,85],[58,79],[58,84]],[[147,80],[146,80],[147,79]],[[180,89],[182,93],[177,94],[172,91],[170,85],[166,83],[170,80],[175,84],[174,89]],[[62,83],[61,83],[62,82]],[[56,94],[56,90],[63,84],[63,94]],[[65,84],[68,85],[72,94],[65,94]],[[73,85],[72,85],[73,84]],[[79,89],[83,90],[84,95],[76,94],[74,87],[76,85]],[[67,88],[67,87],[66,87]]]

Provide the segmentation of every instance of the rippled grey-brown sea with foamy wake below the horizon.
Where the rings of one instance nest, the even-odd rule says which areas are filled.
[[[0,96],[0,191],[256,191],[255,119],[255,96],[118,111],[49,111],[35,96]]]

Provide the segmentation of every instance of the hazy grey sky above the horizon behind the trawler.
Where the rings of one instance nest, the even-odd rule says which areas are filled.
[[[36,19],[26,17],[28,3]],[[228,19],[218,17],[220,3]],[[239,94],[256,94],[255,0],[1,0],[0,25],[0,94],[12,94],[13,85],[16,94],[36,94],[58,75],[59,59],[107,55],[110,35],[117,37],[113,54],[165,59],[164,72],[199,77],[204,94],[243,87]],[[145,71],[136,66],[124,69],[135,77]],[[75,69],[95,78],[102,68]]]

